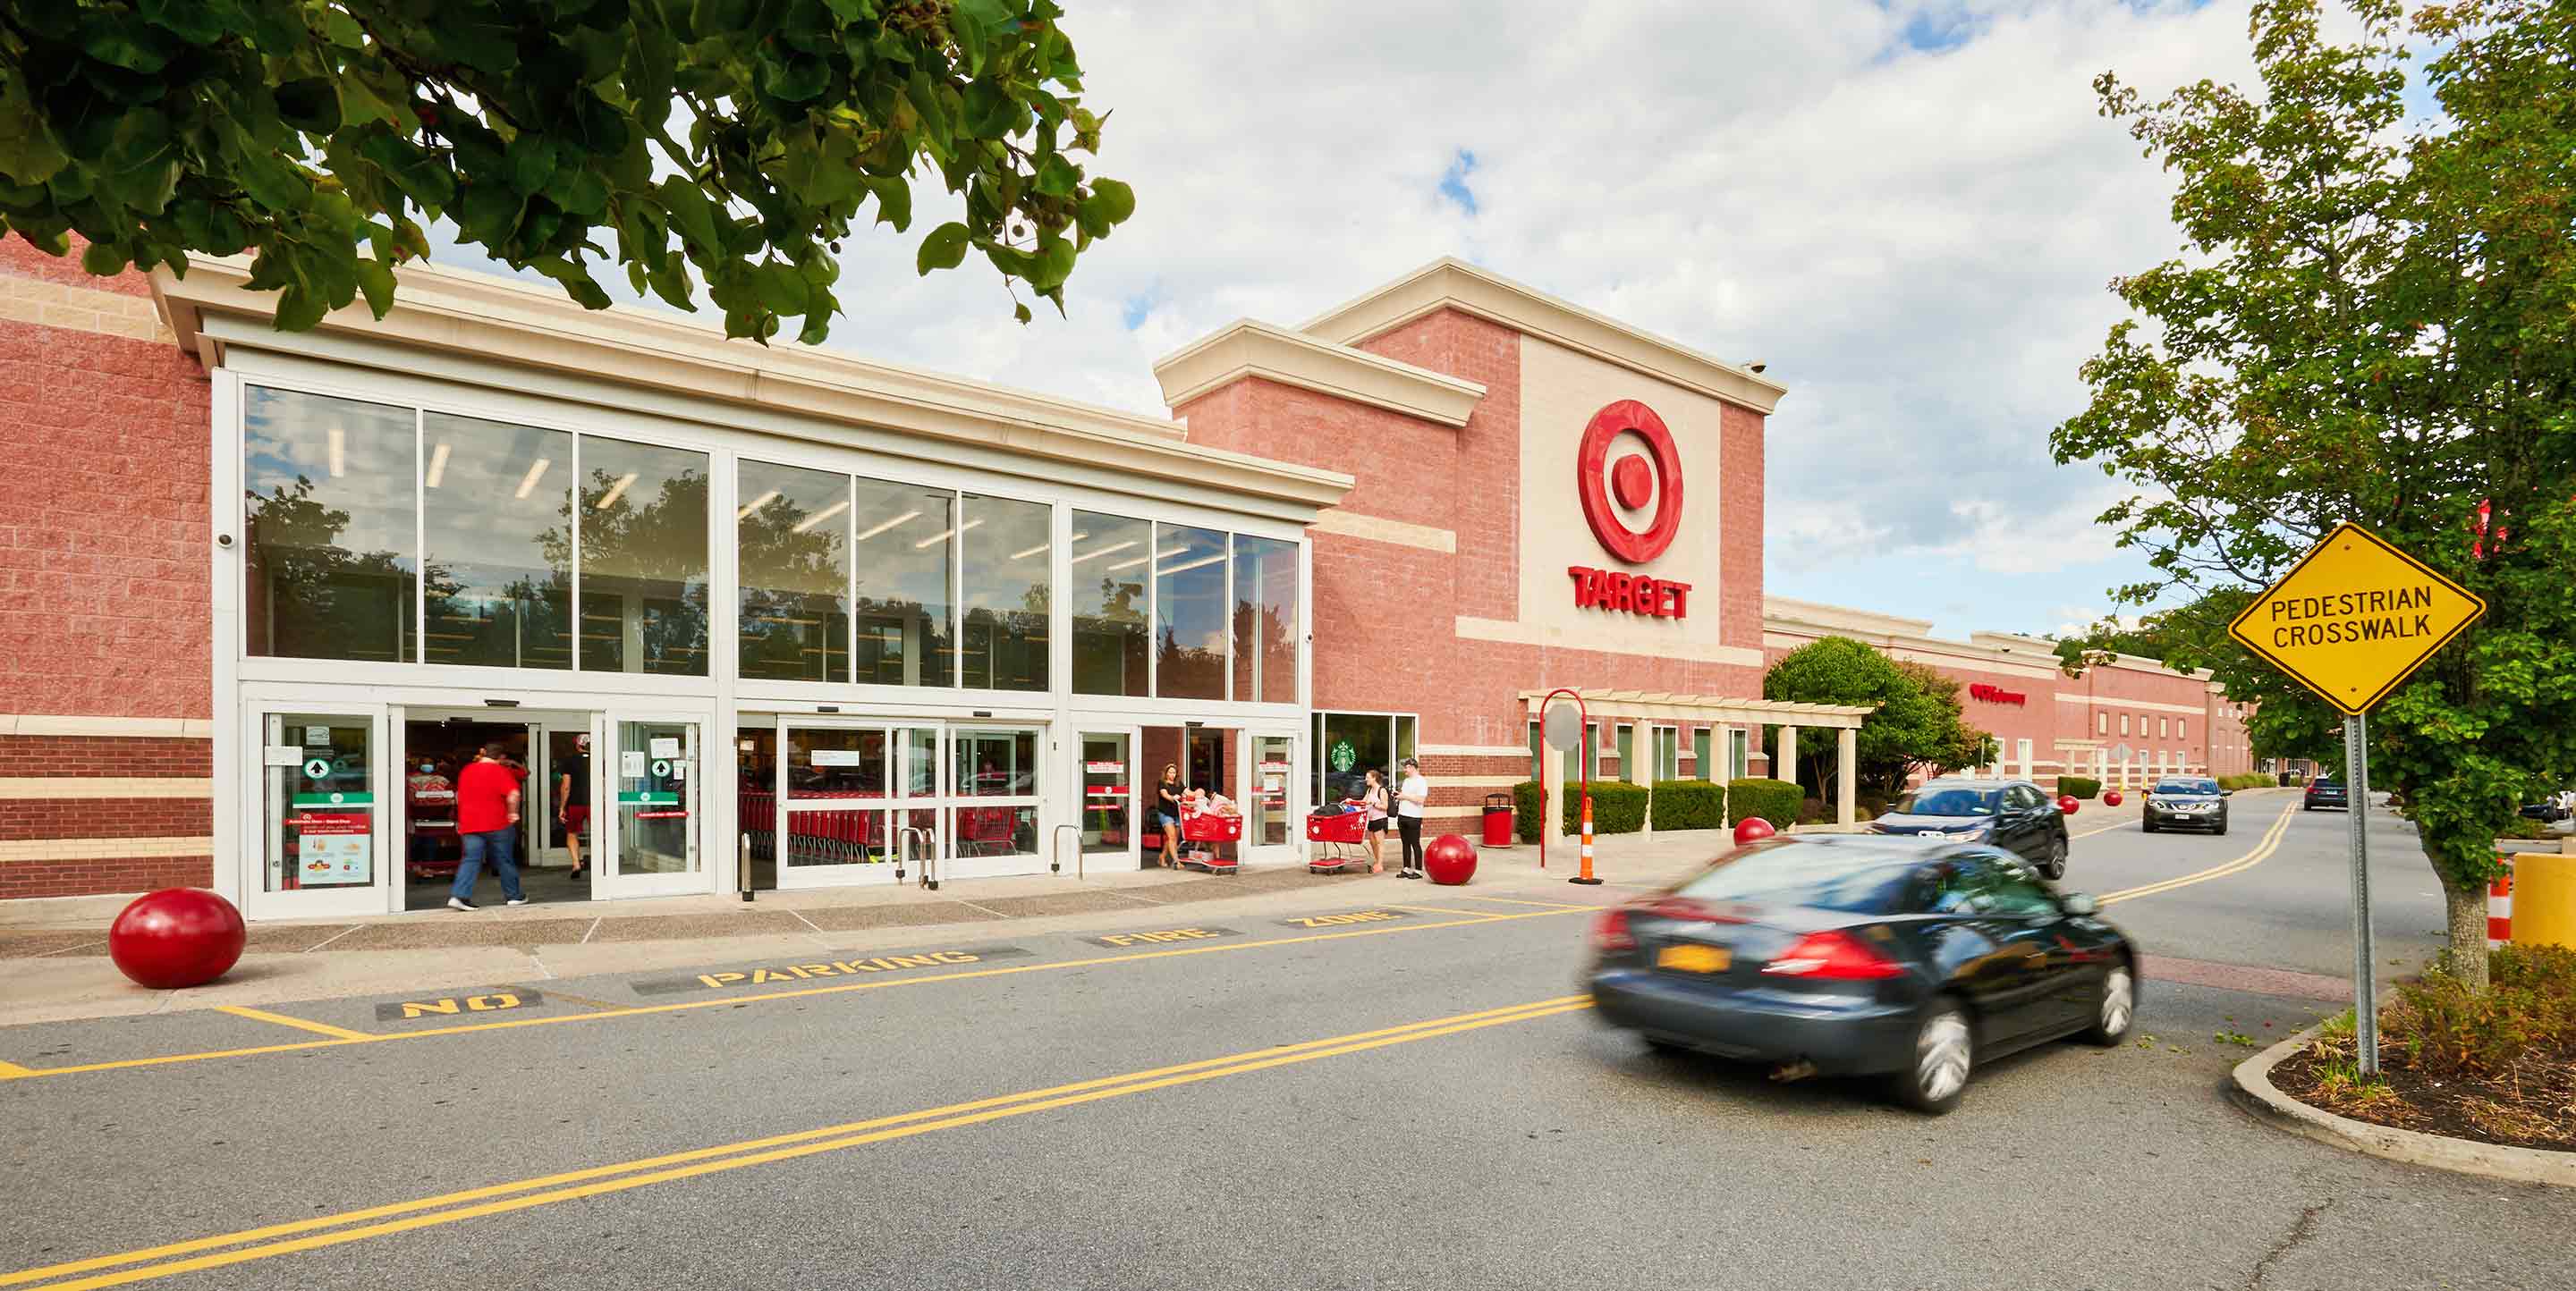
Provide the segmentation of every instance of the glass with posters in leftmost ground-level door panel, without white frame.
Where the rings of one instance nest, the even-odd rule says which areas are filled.
[[[366,716],[270,714],[268,747],[296,765],[268,768],[268,892],[376,881],[376,727]]]

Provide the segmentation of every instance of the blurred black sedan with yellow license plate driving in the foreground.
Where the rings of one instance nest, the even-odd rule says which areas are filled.
[[[1592,1002],[1656,1049],[1886,1075],[1917,1111],[1968,1072],[2076,1036],[2120,1044],[2138,951],[2084,894],[1976,843],[1780,837],[1602,912]]]

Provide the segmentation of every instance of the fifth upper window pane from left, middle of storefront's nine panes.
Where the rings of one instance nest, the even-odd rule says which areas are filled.
[[[948,549],[956,495],[920,484],[855,482],[850,505],[858,567],[858,636],[850,642],[863,685],[956,685],[956,631],[948,606]]]

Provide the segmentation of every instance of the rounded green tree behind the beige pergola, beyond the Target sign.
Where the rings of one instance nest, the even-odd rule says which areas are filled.
[[[1994,752],[1994,740],[1963,722],[1955,680],[1852,636],[1821,636],[1783,655],[1762,675],[1762,698],[1875,706],[1860,719],[1852,758],[1857,789],[1870,796],[1896,796],[1914,773],[1981,765]],[[1777,765],[1775,732],[1765,732],[1765,752]],[[1832,745],[1801,745],[1798,765],[1780,778],[1824,796],[1837,758]]]

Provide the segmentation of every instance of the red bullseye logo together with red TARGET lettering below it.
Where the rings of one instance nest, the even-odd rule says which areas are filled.
[[[1643,454],[1628,454],[1610,464],[1610,448],[1620,435],[1646,443]],[[1602,551],[1646,564],[1672,546],[1682,531],[1682,451],[1672,446],[1664,417],[1636,399],[1620,399],[1592,415],[1584,425],[1582,448],[1574,456],[1574,492],[1584,502],[1584,523],[1602,544]],[[1654,521],[1643,533],[1628,528],[1620,510],[1646,510],[1654,502]],[[1687,618],[1690,582],[1628,575],[1620,569],[1595,569],[1589,564],[1566,567],[1574,577],[1574,608],[1615,611],[1643,618]]]

